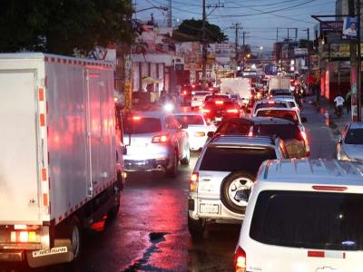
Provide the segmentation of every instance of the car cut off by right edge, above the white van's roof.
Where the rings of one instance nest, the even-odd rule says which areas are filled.
[[[338,138],[337,158],[363,161],[363,122],[347,124]]]

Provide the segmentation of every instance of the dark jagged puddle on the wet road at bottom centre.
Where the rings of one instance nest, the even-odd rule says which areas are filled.
[[[124,272],[132,272],[132,271],[163,271],[163,272],[169,272],[168,270],[158,268],[158,267],[152,267],[148,265],[148,262],[150,260],[150,257],[152,257],[152,254],[154,252],[157,252],[159,248],[157,245],[163,241],[166,241],[165,236],[170,233],[168,232],[151,232],[149,234],[150,242],[152,243],[152,246],[147,248],[145,252],[142,255],[142,258],[138,259],[136,262],[134,262],[130,267],[127,267],[124,269]]]

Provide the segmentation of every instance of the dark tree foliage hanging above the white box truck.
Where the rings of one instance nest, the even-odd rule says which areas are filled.
[[[131,43],[130,0],[8,0],[0,10],[0,52],[73,54]]]

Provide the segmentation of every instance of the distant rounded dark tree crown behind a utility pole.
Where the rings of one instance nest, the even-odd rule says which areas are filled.
[[[182,42],[202,42],[202,20],[184,20],[179,25],[177,36]],[[216,24],[205,23],[205,39],[208,43],[222,43],[228,40],[221,28]]]

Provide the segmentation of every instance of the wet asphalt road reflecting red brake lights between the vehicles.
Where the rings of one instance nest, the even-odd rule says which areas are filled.
[[[333,158],[335,137],[323,116],[308,103],[302,115],[311,158]],[[197,156],[176,179],[130,174],[118,217],[85,237],[80,261],[31,271],[231,271],[240,226],[210,226],[198,242],[188,233],[188,182]]]

